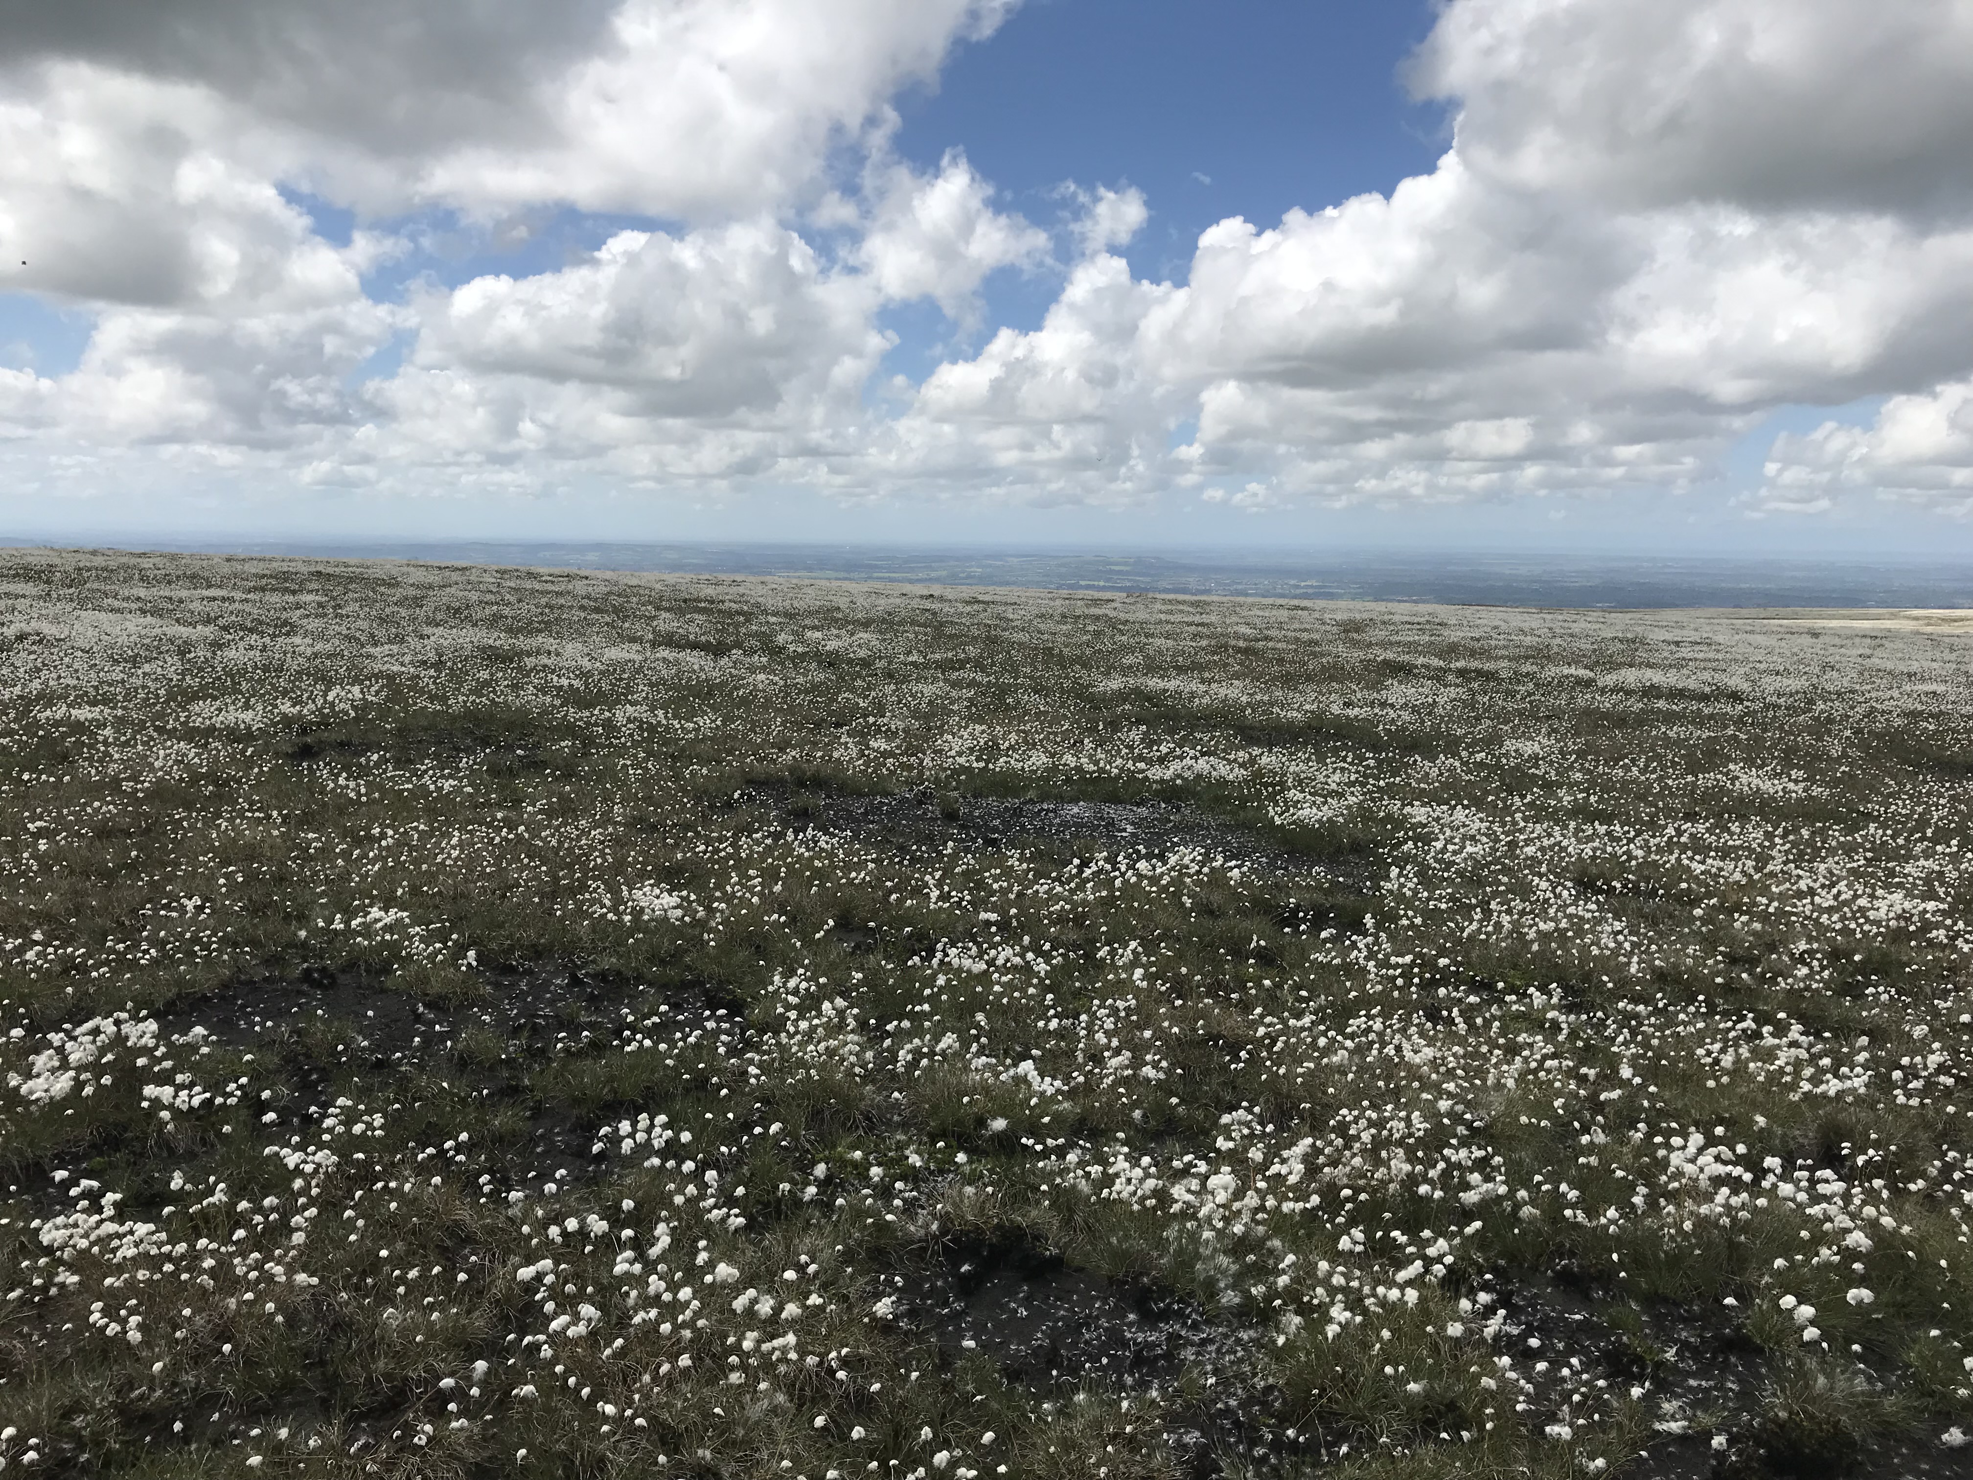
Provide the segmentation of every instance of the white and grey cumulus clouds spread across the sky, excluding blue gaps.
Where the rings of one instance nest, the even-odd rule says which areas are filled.
[[[1436,170],[1221,221],[1174,282],[1119,255],[1129,187],[1036,223],[892,154],[1010,8],[0,0],[0,290],[95,324],[0,369],[8,466],[1434,501],[1683,487],[1778,407],[1882,399],[1780,436],[1758,505],[1973,509],[1967,0],[1450,0],[1407,69]],[[620,229],[426,260],[545,213]],[[1038,328],[986,322],[996,272],[1058,284]],[[961,345],[915,381],[913,302]]]

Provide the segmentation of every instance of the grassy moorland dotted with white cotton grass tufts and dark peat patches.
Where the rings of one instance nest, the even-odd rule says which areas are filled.
[[[1973,1476],[1973,629],[0,551],[0,1460]]]

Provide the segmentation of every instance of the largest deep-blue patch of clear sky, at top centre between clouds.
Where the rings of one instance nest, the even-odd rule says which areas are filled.
[[[1397,75],[1430,20],[1403,0],[1044,0],[900,99],[898,148],[927,168],[963,148],[1032,215],[1065,180],[1138,185],[1152,215],[1125,255],[1182,278],[1213,221],[1273,223],[1432,168],[1444,111]]]

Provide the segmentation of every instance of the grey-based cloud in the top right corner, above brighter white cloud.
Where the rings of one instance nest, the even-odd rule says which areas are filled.
[[[1454,0],[1415,59],[1468,166],[1620,207],[1973,197],[1965,0]]]

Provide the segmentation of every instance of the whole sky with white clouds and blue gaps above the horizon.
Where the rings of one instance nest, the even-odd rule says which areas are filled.
[[[0,0],[0,535],[1969,511],[1973,0]]]

